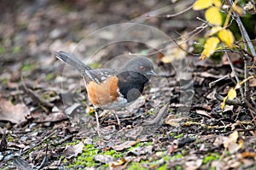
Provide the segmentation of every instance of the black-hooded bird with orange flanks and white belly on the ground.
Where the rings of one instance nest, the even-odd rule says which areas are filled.
[[[143,93],[150,77],[157,76],[153,62],[142,56],[132,57],[124,66],[116,69],[92,69],[73,54],[64,51],[55,52],[55,57],[73,66],[84,78],[88,99],[95,107],[99,134],[97,110],[119,111],[125,108]],[[118,116],[115,116],[119,122]]]

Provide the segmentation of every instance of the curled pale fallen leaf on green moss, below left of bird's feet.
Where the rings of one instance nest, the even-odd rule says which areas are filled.
[[[63,155],[67,159],[70,159],[73,156],[78,156],[80,153],[82,153],[83,148],[84,148],[83,142],[80,142],[79,144],[74,144],[74,145],[67,145],[65,150],[63,150]]]

